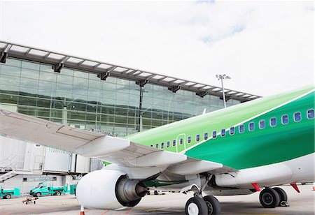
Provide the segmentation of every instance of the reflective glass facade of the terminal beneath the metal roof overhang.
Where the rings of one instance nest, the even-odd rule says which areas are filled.
[[[142,103],[140,104],[140,101]],[[227,105],[238,104],[230,99]],[[223,108],[217,96],[201,98],[195,92],[146,84],[20,59],[0,64],[0,105],[15,105],[23,114],[117,136],[169,124]],[[140,109],[141,108],[141,109]],[[139,117],[141,115],[141,117]],[[141,120],[140,120],[141,119]],[[141,121],[141,123],[140,123]]]

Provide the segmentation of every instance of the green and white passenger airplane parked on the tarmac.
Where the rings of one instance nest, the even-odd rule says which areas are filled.
[[[125,138],[0,110],[0,133],[111,163],[80,179],[80,214],[134,207],[148,188],[192,192],[186,214],[221,214],[214,195],[260,192],[274,208],[288,201],[275,186],[314,181],[314,98],[304,87]]]

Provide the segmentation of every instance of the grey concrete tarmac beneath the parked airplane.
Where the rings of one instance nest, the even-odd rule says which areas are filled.
[[[222,214],[315,214],[315,191],[312,185],[299,185],[301,193],[291,186],[280,186],[288,195],[289,207],[263,208],[259,193],[251,195],[216,196],[221,202]],[[85,209],[85,214],[185,214],[186,201],[192,193],[166,193],[165,195],[146,195],[139,205],[124,211]],[[25,205],[24,198],[0,200],[0,214],[80,214],[80,205],[74,195],[45,196],[36,204]]]

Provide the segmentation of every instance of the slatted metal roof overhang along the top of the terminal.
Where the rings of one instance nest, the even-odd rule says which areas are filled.
[[[151,83],[168,87],[168,89],[173,92],[176,92],[179,89],[184,89],[193,91],[201,97],[207,94],[219,97],[222,96],[221,87],[190,82],[182,78],[151,73],[140,69],[128,68],[126,66],[107,64],[102,61],[74,57],[68,54],[50,52],[48,50],[41,50],[36,47],[28,47],[25,45],[18,45],[0,40],[0,62],[4,63],[7,57],[36,61],[43,64],[51,64],[54,68],[54,71],[57,73],[59,73],[61,69],[65,67],[85,71],[88,73],[97,73],[98,77],[102,80],[106,80],[106,77],[109,77],[110,75],[113,77],[123,78],[125,80],[134,80],[141,87],[143,87],[146,83]],[[241,102],[260,98],[260,96],[247,94],[241,91],[235,91],[232,89],[224,90],[225,96],[227,98],[233,98]]]

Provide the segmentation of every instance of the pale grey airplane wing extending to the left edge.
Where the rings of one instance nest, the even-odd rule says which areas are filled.
[[[221,163],[200,161],[123,138],[93,133],[17,112],[0,109],[0,134],[36,142],[47,147],[71,151],[82,156],[101,158],[130,168],[165,166],[178,175],[230,171]]]

